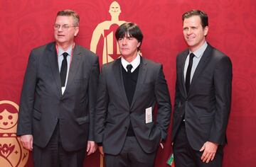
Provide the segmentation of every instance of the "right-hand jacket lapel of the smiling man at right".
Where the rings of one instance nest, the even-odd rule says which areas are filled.
[[[205,69],[208,61],[209,61],[209,58],[210,58],[210,52],[212,52],[213,50],[213,47],[211,47],[209,44],[208,44],[208,47],[206,47],[206,51],[203,52],[203,55],[201,57],[201,60],[198,64],[198,67],[196,67],[196,71],[195,73],[193,74],[193,78],[191,80],[191,86],[190,86],[190,89],[193,90],[193,86],[196,85],[196,80],[198,79],[198,76],[201,74],[201,72],[203,71],[203,69]]]

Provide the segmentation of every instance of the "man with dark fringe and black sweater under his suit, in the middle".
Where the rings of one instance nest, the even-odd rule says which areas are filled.
[[[115,36],[121,57],[102,66],[95,141],[107,167],[152,167],[171,115],[163,68],[139,55],[143,35],[136,24],[120,25]]]

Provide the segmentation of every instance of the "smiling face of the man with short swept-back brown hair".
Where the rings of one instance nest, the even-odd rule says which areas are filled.
[[[191,16],[183,21],[183,35],[189,49],[194,52],[206,42],[208,26],[203,28],[200,16]]]

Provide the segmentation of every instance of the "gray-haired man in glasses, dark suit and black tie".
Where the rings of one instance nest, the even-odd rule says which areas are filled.
[[[17,134],[33,150],[34,166],[80,166],[94,142],[98,57],[75,44],[79,16],[59,11],[55,42],[31,51],[24,76]]]

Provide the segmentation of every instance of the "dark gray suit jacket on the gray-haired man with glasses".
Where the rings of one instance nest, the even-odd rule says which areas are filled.
[[[59,121],[63,148],[75,151],[94,140],[98,57],[75,45],[65,92],[61,93],[55,42],[32,50],[23,80],[17,135],[33,134],[45,147]]]

